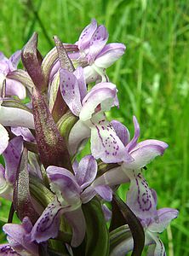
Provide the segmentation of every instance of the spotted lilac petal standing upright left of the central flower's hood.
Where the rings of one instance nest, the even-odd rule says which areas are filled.
[[[79,115],[82,108],[79,84],[73,73],[60,69],[60,92],[72,113]]]

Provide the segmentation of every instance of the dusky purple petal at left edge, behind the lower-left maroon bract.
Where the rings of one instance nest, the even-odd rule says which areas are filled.
[[[14,184],[16,180],[22,150],[22,137],[14,137],[3,152],[3,158],[5,160],[5,178],[11,184]]]

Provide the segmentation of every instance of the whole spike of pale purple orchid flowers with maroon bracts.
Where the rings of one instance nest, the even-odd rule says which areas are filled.
[[[9,59],[0,53],[0,196],[12,201],[0,255],[140,255],[144,246],[165,255],[158,234],[178,211],[157,209],[143,172],[168,145],[139,143],[135,116],[133,138],[106,118],[119,107],[106,68],[126,49],[107,40],[93,19],[75,44],[54,36],[45,57],[37,33]],[[116,193],[123,183],[126,202]],[[14,212],[21,224],[12,223]]]

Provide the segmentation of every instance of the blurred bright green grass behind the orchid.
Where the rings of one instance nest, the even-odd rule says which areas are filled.
[[[39,33],[38,48],[45,55],[52,36],[74,43],[91,18],[105,24],[109,42],[126,44],[120,61],[107,73],[117,84],[120,109],[110,119],[134,128],[140,121],[140,139],[169,143],[163,157],[145,172],[158,192],[158,207],[176,207],[179,218],[161,238],[169,256],[189,255],[189,5],[182,0],[54,0],[0,1],[0,50],[7,56],[21,49],[31,33]],[[125,197],[125,189],[121,189]],[[9,203],[2,200],[1,225]],[[1,233],[3,241],[4,235]]]

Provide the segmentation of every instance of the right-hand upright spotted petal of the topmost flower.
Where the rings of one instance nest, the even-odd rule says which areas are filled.
[[[96,55],[105,47],[107,39],[108,32],[106,27],[103,25],[98,26],[89,44],[88,62],[90,65],[94,62]]]

